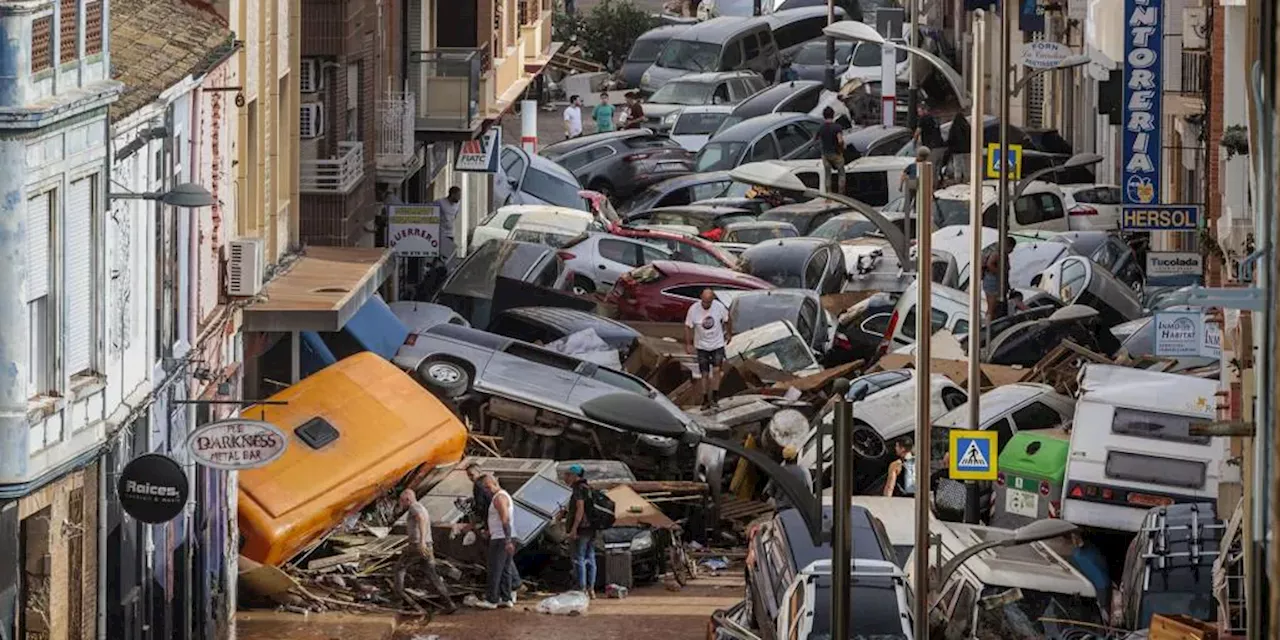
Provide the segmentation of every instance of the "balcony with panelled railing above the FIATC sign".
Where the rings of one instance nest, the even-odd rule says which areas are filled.
[[[434,49],[410,54],[410,82],[417,102],[416,128],[475,131],[480,124],[480,49]]]

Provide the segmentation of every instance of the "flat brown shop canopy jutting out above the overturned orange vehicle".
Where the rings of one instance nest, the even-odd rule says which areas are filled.
[[[392,275],[390,250],[307,247],[244,308],[247,332],[338,332]]]

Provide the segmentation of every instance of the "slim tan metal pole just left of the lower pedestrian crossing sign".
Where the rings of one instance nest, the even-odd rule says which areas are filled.
[[[915,216],[919,220],[919,241],[915,243],[915,283],[919,300],[915,308],[929,308],[933,301],[933,247],[931,215],[933,211],[933,163],[915,164],[916,189],[915,189]],[[929,435],[933,416],[929,415],[932,406],[929,390],[933,378],[933,335],[931,334],[932,314],[915,314],[915,599],[916,621],[929,620]],[[915,637],[929,639],[929,625],[916,623]]]

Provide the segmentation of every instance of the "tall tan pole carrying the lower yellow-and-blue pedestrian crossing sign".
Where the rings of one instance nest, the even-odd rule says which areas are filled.
[[[969,136],[969,228],[973,246],[969,247],[969,429],[977,429],[978,397],[982,394],[982,369],[979,361],[982,332],[982,115],[986,95],[983,92],[983,73],[987,49],[987,15],[983,10],[973,13],[973,114],[970,115]],[[919,337],[919,334],[916,334]],[[919,338],[916,338],[919,339]],[[928,456],[928,453],[924,453]],[[968,512],[968,492],[965,511]],[[925,618],[928,620],[928,618]]]

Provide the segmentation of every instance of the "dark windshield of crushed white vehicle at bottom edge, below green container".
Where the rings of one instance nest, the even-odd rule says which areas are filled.
[[[992,604],[978,607],[978,637],[1075,637],[1070,630],[1102,626],[1094,598],[1004,586],[988,586],[982,596]]]

